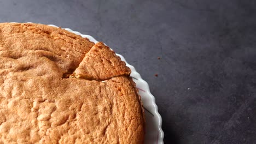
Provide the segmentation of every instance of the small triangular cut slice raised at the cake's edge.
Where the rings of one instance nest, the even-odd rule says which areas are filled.
[[[115,52],[103,43],[96,43],[86,53],[72,76],[78,79],[107,80],[120,75],[130,75],[131,70]]]

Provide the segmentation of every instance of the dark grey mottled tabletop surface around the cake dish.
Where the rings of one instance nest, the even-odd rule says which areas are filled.
[[[255,8],[238,0],[0,1],[0,21],[68,27],[123,55],[149,83],[165,143],[256,143]]]

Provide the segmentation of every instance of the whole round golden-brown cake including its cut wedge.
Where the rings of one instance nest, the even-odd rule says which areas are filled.
[[[0,143],[143,143],[130,73],[103,43],[0,23]]]

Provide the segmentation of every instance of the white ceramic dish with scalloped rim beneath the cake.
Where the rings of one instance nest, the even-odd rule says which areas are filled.
[[[49,25],[53,27],[57,27],[55,25]],[[83,38],[88,38],[90,41],[97,43],[90,35],[84,35],[79,32],[72,31],[69,28],[63,28],[69,32],[72,32],[77,35],[81,35]],[[145,144],[162,144],[164,143],[164,132],[162,131],[162,118],[158,113],[158,106],[155,104],[155,97],[150,93],[149,86],[146,81],[141,78],[141,75],[137,73],[135,68],[125,61],[125,58],[119,54],[117,54],[122,61],[126,63],[126,65],[131,69],[131,77],[133,81],[136,83],[136,87],[139,89],[139,95],[141,95],[145,116],[146,116],[146,136],[145,136]]]

